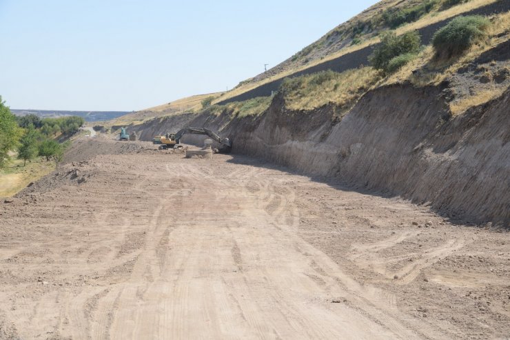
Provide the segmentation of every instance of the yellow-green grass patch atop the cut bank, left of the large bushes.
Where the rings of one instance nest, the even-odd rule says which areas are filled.
[[[281,92],[285,106],[292,110],[312,110],[327,103],[348,109],[381,77],[371,67],[342,73],[323,71],[285,79]]]

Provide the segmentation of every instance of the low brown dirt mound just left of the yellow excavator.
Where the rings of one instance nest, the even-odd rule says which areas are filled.
[[[81,162],[98,154],[139,154],[157,152],[156,146],[143,141],[115,141],[106,137],[79,139],[65,152],[63,163]]]

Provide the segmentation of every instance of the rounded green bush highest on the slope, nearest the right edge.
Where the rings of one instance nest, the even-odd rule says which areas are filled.
[[[490,24],[487,18],[479,15],[456,17],[433,35],[432,45],[436,56],[450,58],[462,54],[473,43],[487,37]]]

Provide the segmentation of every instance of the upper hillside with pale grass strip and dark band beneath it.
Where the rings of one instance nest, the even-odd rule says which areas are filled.
[[[493,14],[510,10],[504,0],[471,1],[380,1],[358,16],[340,24],[297,54],[256,77],[241,81],[215,103],[227,103],[268,96],[278,90],[285,77],[312,74],[320,70],[342,72],[367,66],[367,57],[380,42],[379,34],[394,30],[397,34],[420,31],[424,42],[452,17],[462,14]],[[403,17],[394,24],[395,17]]]

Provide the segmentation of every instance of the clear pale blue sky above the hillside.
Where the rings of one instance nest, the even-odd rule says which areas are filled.
[[[0,0],[11,108],[141,110],[263,72],[375,0]]]

